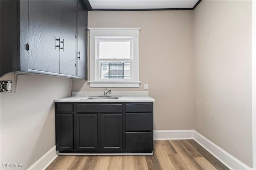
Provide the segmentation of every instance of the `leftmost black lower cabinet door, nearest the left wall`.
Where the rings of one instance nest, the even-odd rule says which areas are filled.
[[[56,147],[57,150],[74,149],[73,113],[56,114]]]

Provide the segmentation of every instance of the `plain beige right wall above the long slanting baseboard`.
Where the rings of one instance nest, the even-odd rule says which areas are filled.
[[[251,1],[194,10],[195,130],[252,167]]]

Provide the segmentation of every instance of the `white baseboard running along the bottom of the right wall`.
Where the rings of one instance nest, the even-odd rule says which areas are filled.
[[[194,131],[194,140],[199,143],[204,149],[208,150],[213,156],[215,156],[220,162],[225,164],[228,168],[232,170],[251,170],[249,166],[221,149],[214,143],[212,143],[209,139]]]

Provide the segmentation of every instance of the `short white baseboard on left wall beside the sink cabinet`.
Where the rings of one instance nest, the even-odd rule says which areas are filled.
[[[46,154],[32,164],[28,170],[44,170],[49,166],[52,161],[58,156],[56,146],[52,147]]]

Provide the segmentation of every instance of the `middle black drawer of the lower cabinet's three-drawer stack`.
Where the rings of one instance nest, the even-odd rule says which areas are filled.
[[[152,131],[152,113],[126,113],[126,131]]]

